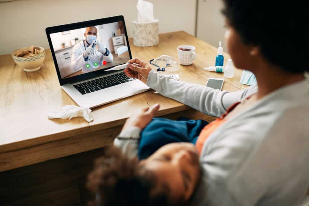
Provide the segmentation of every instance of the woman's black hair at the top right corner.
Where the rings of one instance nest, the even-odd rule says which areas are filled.
[[[223,14],[244,44],[260,46],[263,56],[290,73],[309,71],[307,1],[223,0]],[[301,63],[301,64],[299,64]]]

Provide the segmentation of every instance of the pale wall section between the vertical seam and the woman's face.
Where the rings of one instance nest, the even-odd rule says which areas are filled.
[[[219,47],[219,41],[221,41],[224,52],[227,53],[222,8],[222,0],[198,0],[197,38],[215,47]]]

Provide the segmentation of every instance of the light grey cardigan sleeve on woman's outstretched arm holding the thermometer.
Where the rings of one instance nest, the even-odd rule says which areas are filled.
[[[151,70],[147,86],[210,116],[221,116],[233,103],[257,91],[251,86],[237,92],[215,90],[207,86],[177,81]]]

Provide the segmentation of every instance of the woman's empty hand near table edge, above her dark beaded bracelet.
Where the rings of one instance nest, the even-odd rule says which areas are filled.
[[[144,129],[146,125],[154,118],[156,113],[159,111],[160,105],[155,104],[150,108],[144,108],[133,114],[125,121],[125,124],[122,127],[122,130],[129,127],[139,127]]]

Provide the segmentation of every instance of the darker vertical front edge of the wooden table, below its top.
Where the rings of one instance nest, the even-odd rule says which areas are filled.
[[[215,119],[191,107],[185,107],[188,109],[167,115],[162,115],[165,113],[165,111],[163,111],[163,113],[159,113],[158,116],[172,120],[176,120],[182,116],[194,120],[202,119],[208,122]],[[0,153],[0,172],[112,145],[114,138],[119,134],[121,128],[122,126],[119,125],[46,142],[28,148]]]

